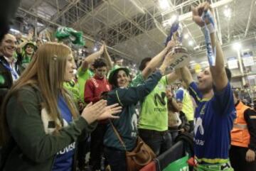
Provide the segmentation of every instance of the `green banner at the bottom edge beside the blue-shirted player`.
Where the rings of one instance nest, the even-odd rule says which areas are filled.
[[[188,171],[188,155],[171,162],[163,171]]]

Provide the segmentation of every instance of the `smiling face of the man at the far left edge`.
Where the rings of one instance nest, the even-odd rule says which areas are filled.
[[[13,57],[16,50],[16,38],[14,35],[6,34],[0,45],[0,53],[5,57]]]

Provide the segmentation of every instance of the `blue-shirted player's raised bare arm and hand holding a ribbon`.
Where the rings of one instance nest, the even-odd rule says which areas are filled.
[[[205,29],[208,29],[210,33],[210,44],[213,48],[213,53],[215,49],[215,66],[210,65],[210,73],[213,77],[213,84],[215,85],[216,90],[220,91],[223,88],[225,88],[228,84],[228,77],[226,76],[225,73],[225,66],[223,60],[223,51],[220,47],[220,43],[215,37],[215,28],[213,24],[210,23],[210,20],[206,19],[206,24],[208,26],[205,28],[205,22],[201,18],[204,11],[209,11],[211,16],[213,16],[213,10],[211,9],[210,4],[208,4],[208,2],[205,2],[203,4],[199,4],[196,8],[193,8],[192,11],[193,21],[195,21],[198,24],[198,26],[202,28],[202,30],[204,31],[203,33],[205,35]],[[214,22],[215,21],[213,19],[213,23]]]

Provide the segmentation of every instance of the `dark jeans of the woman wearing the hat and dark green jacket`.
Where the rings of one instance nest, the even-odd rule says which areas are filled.
[[[127,171],[127,163],[124,150],[104,148],[104,154],[109,162],[111,171]]]

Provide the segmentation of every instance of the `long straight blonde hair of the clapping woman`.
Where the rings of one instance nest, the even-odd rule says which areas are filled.
[[[61,126],[58,126],[57,121],[60,119],[60,111],[58,110],[58,96],[60,94],[68,104],[68,108],[73,116],[78,116],[78,110],[70,98],[70,95],[63,88],[65,67],[68,57],[72,55],[72,50],[61,43],[45,43],[41,45],[33,56],[33,60],[28,65],[21,77],[11,87],[9,94],[4,100],[1,114],[1,139],[7,140],[8,128],[6,125],[6,105],[12,94],[17,92],[22,87],[29,85],[38,87],[43,97],[42,107],[46,108],[48,114],[57,126],[57,131]],[[62,119],[60,119],[62,121]]]

